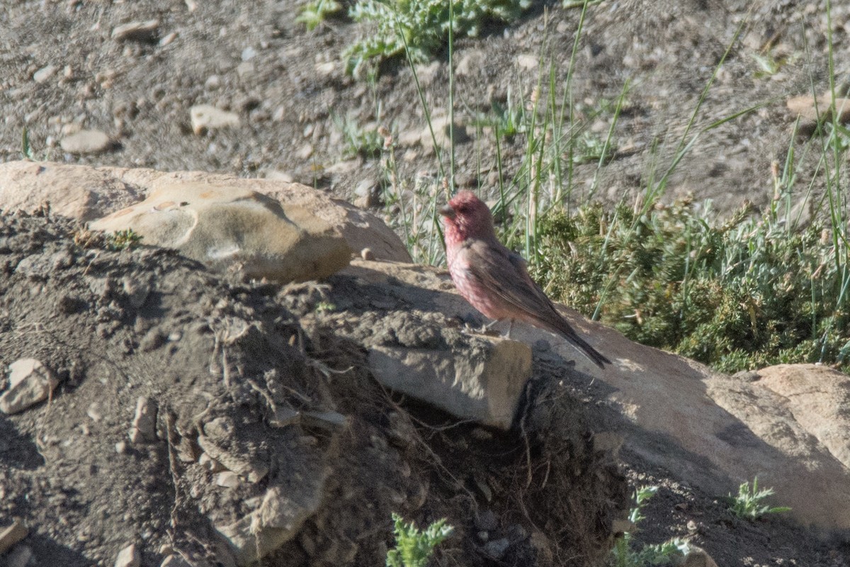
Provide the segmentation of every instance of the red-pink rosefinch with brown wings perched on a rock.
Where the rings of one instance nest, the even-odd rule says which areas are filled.
[[[490,209],[472,191],[461,191],[440,209],[445,255],[457,291],[490,319],[521,320],[560,334],[603,368],[611,361],[579,337],[531,279],[525,260],[496,238]]]

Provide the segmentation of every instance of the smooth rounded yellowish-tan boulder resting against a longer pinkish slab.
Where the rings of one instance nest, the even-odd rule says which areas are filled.
[[[214,269],[255,279],[315,280],[348,265],[351,250],[335,230],[306,212],[300,221],[287,218],[280,202],[256,191],[179,183],[90,226],[107,232],[132,229],[144,244],[175,248]]]

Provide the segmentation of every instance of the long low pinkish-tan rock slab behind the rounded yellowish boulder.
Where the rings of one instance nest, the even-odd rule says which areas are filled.
[[[54,214],[90,221],[101,218],[160,189],[180,184],[207,184],[226,191],[257,191],[278,201],[286,217],[305,230],[320,218],[342,235],[352,250],[371,248],[375,257],[410,262],[411,256],[393,230],[372,213],[334,199],[323,191],[275,179],[239,179],[202,172],[158,172],[152,169],[72,166],[51,162],[0,163],[0,209],[36,213],[45,202]]]

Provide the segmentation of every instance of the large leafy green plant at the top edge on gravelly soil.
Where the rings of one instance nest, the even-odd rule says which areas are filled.
[[[344,54],[349,73],[370,60],[405,53],[413,61],[428,60],[445,48],[449,28],[455,37],[475,37],[487,21],[512,22],[530,0],[360,0],[348,10],[357,22],[370,25]],[[450,18],[450,15],[452,16]]]

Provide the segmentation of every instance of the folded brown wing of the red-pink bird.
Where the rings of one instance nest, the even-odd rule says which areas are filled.
[[[530,318],[540,320],[553,330],[563,331],[564,318],[531,279],[525,260],[519,254],[498,241],[468,240],[464,248],[467,274],[481,286]]]

